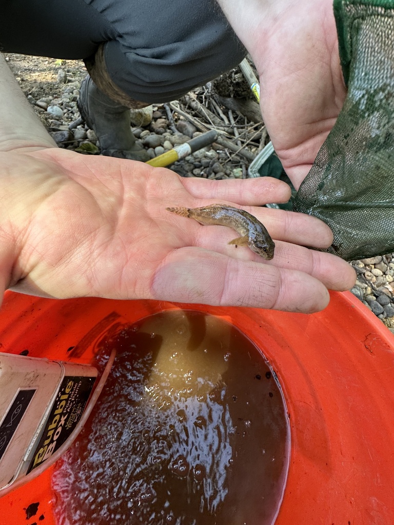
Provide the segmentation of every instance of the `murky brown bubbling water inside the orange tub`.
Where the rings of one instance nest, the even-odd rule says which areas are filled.
[[[123,331],[54,476],[59,524],[271,525],[288,466],[281,391],[231,324],[171,311]]]

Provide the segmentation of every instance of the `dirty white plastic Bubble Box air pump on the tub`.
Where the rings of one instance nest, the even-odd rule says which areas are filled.
[[[86,421],[96,378],[91,365],[0,353],[0,496],[36,477],[70,446]]]

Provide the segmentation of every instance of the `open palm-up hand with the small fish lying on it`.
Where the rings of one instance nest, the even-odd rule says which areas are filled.
[[[47,148],[0,153],[3,289],[67,298],[96,296],[313,312],[327,288],[355,280],[327,247],[318,219],[268,208],[285,202],[280,181],[209,181],[123,159]],[[222,226],[201,226],[167,206],[239,205],[275,239],[272,261],[227,242]]]

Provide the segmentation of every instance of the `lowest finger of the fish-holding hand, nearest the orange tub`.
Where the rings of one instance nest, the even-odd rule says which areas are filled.
[[[329,301],[327,288],[304,272],[243,261],[202,248],[171,251],[155,271],[154,299],[312,313]]]

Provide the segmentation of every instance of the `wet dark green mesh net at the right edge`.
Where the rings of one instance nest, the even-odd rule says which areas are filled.
[[[346,260],[394,252],[394,0],[335,0],[344,107],[294,209],[330,226]]]

